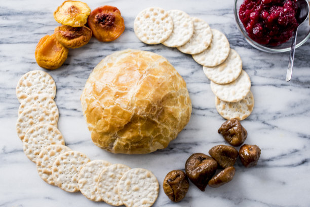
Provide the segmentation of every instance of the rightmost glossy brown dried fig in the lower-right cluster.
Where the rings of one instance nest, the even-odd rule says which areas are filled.
[[[260,149],[256,145],[243,145],[239,150],[239,157],[242,164],[246,167],[257,165],[260,156]]]

